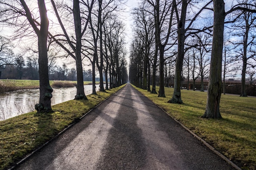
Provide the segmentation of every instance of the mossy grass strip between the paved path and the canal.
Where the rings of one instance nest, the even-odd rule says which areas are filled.
[[[0,121],[0,170],[7,169],[45,144],[122,87],[87,95],[88,100],[56,104],[52,106],[54,113],[31,112]]]

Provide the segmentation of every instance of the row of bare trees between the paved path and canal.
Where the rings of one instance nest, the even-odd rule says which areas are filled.
[[[26,51],[38,53],[38,112],[52,110],[52,88],[48,74],[51,50],[58,51],[58,57],[71,57],[76,64],[75,99],[87,99],[83,88],[85,60],[92,66],[93,94],[96,94],[96,66],[100,77],[100,91],[105,91],[103,72],[106,80],[110,79],[110,87],[106,82],[106,89],[127,82],[124,24],[117,17],[121,10],[119,7],[119,0],[38,0],[37,4],[31,1],[26,3],[24,0],[0,2],[1,22],[18,28],[12,36],[19,38],[20,42],[26,42],[26,46],[23,46]]]

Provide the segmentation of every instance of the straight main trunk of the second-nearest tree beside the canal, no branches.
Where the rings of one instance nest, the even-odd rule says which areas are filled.
[[[83,67],[81,59],[81,48],[82,48],[82,33],[81,33],[81,16],[79,0],[73,0],[73,15],[76,32],[76,74],[77,74],[77,85],[76,85],[76,96],[75,99],[87,99],[84,93],[83,87]]]

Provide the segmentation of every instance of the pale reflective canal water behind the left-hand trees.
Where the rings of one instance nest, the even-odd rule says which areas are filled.
[[[92,85],[85,85],[85,95],[92,93]],[[96,91],[99,85],[96,85]],[[76,87],[53,88],[52,105],[72,100],[76,95]],[[19,90],[0,94],[0,121],[35,110],[39,101],[39,89]]]

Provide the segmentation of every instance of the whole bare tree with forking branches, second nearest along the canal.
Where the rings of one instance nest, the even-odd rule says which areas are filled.
[[[52,6],[54,8],[56,17],[58,19],[59,25],[61,26],[61,29],[63,31],[65,39],[61,39],[61,38],[57,39],[57,37],[63,38],[63,34],[52,35],[51,33],[49,33],[49,36],[52,39],[52,42],[56,42],[58,45],[60,45],[76,61],[77,85],[76,85],[75,99],[87,99],[87,97],[84,93],[84,87],[83,87],[83,67],[82,67],[81,50],[82,50],[82,37],[83,37],[83,35],[87,29],[87,26],[88,26],[88,22],[89,22],[88,18],[90,18],[94,0],[91,1],[91,4],[89,2],[82,1],[82,4],[88,8],[88,11],[87,11],[88,13],[85,14],[85,17],[86,17],[86,15],[88,15],[87,18],[83,17],[83,19],[85,18],[85,20],[83,20],[83,22],[84,22],[83,30],[82,30],[82,17],[81,17],[81,7],[80,7],[81,2],[79,0],[73,0],[73,9],[72,10],[70,10],[71,8],[68,7],[68,5],[65,6],[65,9],[67,9],[67,11],[70,10],[70,12],[72,12],[72,14],[73,14],[74,32],[76,35],[75,43],[72,42],[72,40],[70,39],[71,36],[68,35],[68,33],[67,33],[67,29],[65,28],[65,26],[63,24],[63,21],[62,21],[63,19],[59,15],[59,12],[56,8],[54,0],[51,0],[51,2],[52,2]],[[72,38],[74,38],[74,37],[72,37]],[[67,47],[64,46],[61,42],[67,42],[67,44],[70,46],[71,50],[67,49]]]

